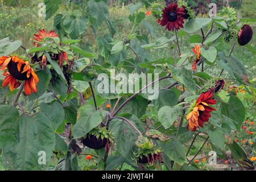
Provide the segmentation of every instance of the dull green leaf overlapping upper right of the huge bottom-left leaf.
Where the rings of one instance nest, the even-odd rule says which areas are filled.
[[[52,126],[57,129],[65,117],[64,109],[61,104],[57,101],[50,104],[43,102],[40,104],[40,108],[42,109],[43,113],[46,114],[49,121],[51,121]]]

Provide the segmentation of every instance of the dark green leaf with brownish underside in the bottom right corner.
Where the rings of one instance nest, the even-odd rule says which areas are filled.
[[[247,159],[245,150],[238,143],[233,140],[233,143],[227,144],[227,146],[240,167],[243,169],[254,169],[253,162]]]

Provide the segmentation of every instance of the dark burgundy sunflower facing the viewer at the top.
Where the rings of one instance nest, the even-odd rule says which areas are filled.
[[[179,30],[180,27],[183,28],[183,15],[185,15],[184,10],[185,9],[183,7],[178,7],[177,3],[171,3],[162,10],[161,26],[166,26],[166,29],[169,31],[174,31],[175,29]]]

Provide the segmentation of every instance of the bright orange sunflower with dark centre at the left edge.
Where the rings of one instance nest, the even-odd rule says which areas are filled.
[[[36,85],[39,78],[31,68],[28,61],[20,59],[18,56],[2,56],[0,57],[0,70],[5,76],[2,87],[9,85],[9,89],[13,91],[18,88],[24,81],[24,92],[28,96],[31,92],[36,93]]]

